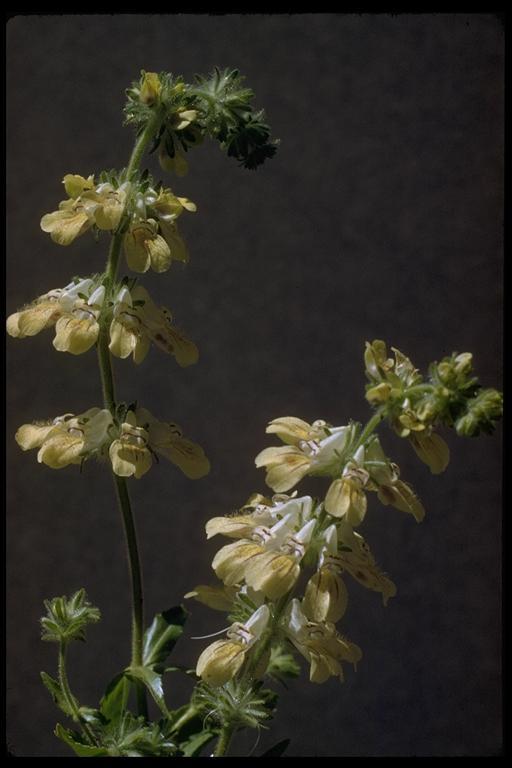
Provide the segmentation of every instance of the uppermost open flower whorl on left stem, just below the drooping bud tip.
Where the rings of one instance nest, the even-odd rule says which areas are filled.
[[[166,272],[174,261],[188,261],[188,251],[178,232],[177,218],[183,211],[195,211],[186,197],[176,197],[170,189],[154,189],[148,179],[121,181],[123,174],[111,174],[109,181],[97,184],[94,176],[64,176],[69,195],[59,210],[41,219],[41,229],[59,245],[70,245],[95,227],[98,230],[124,231],[124,252],[134,272]]]

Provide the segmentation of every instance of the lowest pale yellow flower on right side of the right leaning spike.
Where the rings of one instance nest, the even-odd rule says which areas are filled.
[[[331,622],[309,621],[294,598],[283,618],[283,628],[297,650],[310,663],[309,679],[324,683],[329,677],[343,681],[341,662],[357,665],[362,651],[342,637]]]

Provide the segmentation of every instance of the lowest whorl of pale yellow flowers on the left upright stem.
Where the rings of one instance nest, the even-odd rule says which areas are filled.
[[[66,413],[46,423],[24,424],[16,432],[24,450],[38,448],[37,460],[52,469],[108,459],[119,477],[139,479],[163,456],[189,478],[203,477],[210,465],[203,449],[172,423],[158,421],[146,408],[124,409],[114,419],[106,408]]]

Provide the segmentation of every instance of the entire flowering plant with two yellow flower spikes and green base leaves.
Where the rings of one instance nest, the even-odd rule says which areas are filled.
[[[76,276],[11,314],[7,331],[14,338],[55,329],[57,351],[84,354],[95,347],[103,388],[101,407],[66,413],[22,425],[16,441],[37,449],[37,460],[53,469],[90,459],[107,465],[122,512],[132,591],[132,655],[108,683],[96,708],[84,706],[67,678],[69,644],[84,640],[99,610],[84,590],[45,603],[43,640],[58,645],[58,675],[41,673],[55,704],[75,729],[57,725],[55,733],[75,754],[100,756],[197,756],[210,742],[214,755],[227,753],[242,728],[259,729],[273,716],[277,695],[272,681],[297,677],[302,657],[309,679],[344,679],[344,663],[354,667],[362,650],[339,631],[356,580],[382,595],[384,604],[396,586],[377,566],[356,530],[367,514],[368,494],[421,522],[425,510],[399,467],[385,453],[377,434],[387,421],[406,439],[433,474],[449,463],[439,428],[460,436],[490,433],[501,416],[502,397],[483,389],[473,375],[470,353],[453,353],[431,364],[423,376],[402,352],[388,355],[381,340],[364,353],[366,399],[374,413],[365,425],[312,424],[294,417],[275,418],[267,433],[281,445],[256,457],[266,469],[274,495],[253,494],[235,514],[213,517],[208,538],[230,540],[214,557],[214,585],[198,585],[185,597],[228,614],[225,637],[208,644],[195,670],[190,701],[170,708],[163,675],[183,633],[182,606],[157,614],[147,625],[138,542],[127,478],[140,479],[163,456],[188,478],[208,474],[202,448],[184,437],[174,422],[155,418],[138,400],[118,400],[112,356],[141,364],[151,345],[171,354],[179,366],[197,362],[196,345],[178,329],[171,313],[158,307],[131,275],[118,276],[121,256],[131,272],[166,272],[173,261],[186,263],[188,251],[178,230],[183,213],[196,211],[147,170],[146,150],[158,152],[165,171],[183,176],[188,153],[204,138],[218,141],[228,156],[249,169],[276,152],[277,142],[263,112],[252,107],[253,94],[236,70],[216,69],[187,84],[168,73],[142,72],[127,92],[126,122],[137,139],[126,168],[97,177],[67,174],[67,198],[43,216],[41,228],[58,245],[68,246],[90,231],[109,232],[111,244],[103,272]],[[309,475],[328,478],[325,496],[298,496],[293,489]],[[288,494],[293,491],[292,494]],[[152,715],[148,698],[154,702]],[[276,745],[267,756],[282,754]]]

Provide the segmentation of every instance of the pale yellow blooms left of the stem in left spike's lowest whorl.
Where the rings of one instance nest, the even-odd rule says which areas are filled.
[[[62,469],[101,453],[111,426],[110,411],[90,408],[78,416],[59,416],[51,423],[24,424],[16,432],[16,442],[24,451],[39,448],[39,463]]]

